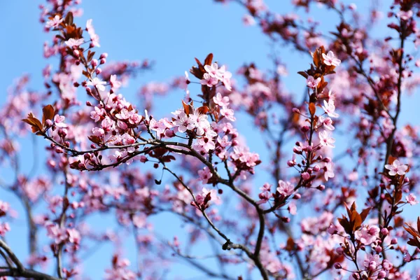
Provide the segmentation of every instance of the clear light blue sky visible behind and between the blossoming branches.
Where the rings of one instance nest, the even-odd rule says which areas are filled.
[[[267,6],[284,14],[292,11],[288,0],[266,1]],[[350,1],[346,1],[350,3]],[[352,1],[357,4],[360,10],[367,10],[365,0]],[[388,1],[385,1],[388,2]],[[31,76],[30,88],[43,90],[43,78],[41,69],[47,63],[43,58],[43,42],[50,40],[51,34],[43,32],[43,26],[38,22],[40,10],[39,0],[0,0],[0,89],[3,95],[0,97],[0,105],[6,100],[6,88],[13,83],[13,80],[29,73]],[[218,62],[227,64],[230,71],[235,71],[244,62],[256,62],[262,69],[272,69],[269,60],[269,39],[260,32],[258,26],[244,27],[241,18],[245,13],[236,3],[229,5],[215,4],[211,0],[154,0],[154,1],[100,1],[85,0],[81,7],[84,13],[77,18],[78,25],[84,26],[87,19],[93,19],[93,25],[100,36],[101,48],[97,51],[108,52],[109,61],[121,60],[143,60],[155,61],[152,71],[139,75],[130,81],[129,87],[121,90],[125,97],[136,103],[136,92],[145,83],[152,80],[169,81],[174,76],[183,76],[184,71],[190,69],[194,57],[204,59],[213,52]],[[383,5],[384,8],[387,6]],[[324,9],[314,9],[311,16],[315,20],[322,19],[322,29],[332,29],[332,24],[337,22],[335,16],[328,17]],[[302,14],[302,10],[299,11]],[[321,20],[320,20],[321,21]],[[377,36],[389,34],[386,25],[377,27]],[[298,52],[284,48],[281,55],[283,62],[288,66],[289,75],[285,81],[286,87],[292,92],[300,92],[304,89],[304,80],[296,74],[304,69],[307,64],[307,57]],[[199,87],[191,86],[190,90],[199,90]],[[345,89],[335,89],[345,90]],[[82,93],[83,94],[83,93]],[[157,98],[160,102],[160,109],[155,111],[156,116],[167,115],[167,113],[178,109],[183,92],[180,90],[165,99]],[[416,109],[419,106],[420,98],[418,92],[411,97],[404,97],[403,111],[400,123],[410,121],[416,125],[420,122],[420,113]],[[239,118],[238,118],[239,119]],[[239,119],[239,130],[247,138],[251,151],[260,151],[260,136],[249,125],[248,118]],[[29,141],[21,142],[23,150],[29,145]],[[40,141],[38,141],[38,144]],[[339,144],[337,144],[338,146]],[[41,147],[42,145],[40,145]],[[41,150],[40,154],[43,153]],[[29,153],[30,155],[30,153]],[[267,155],[262,154],[262,157]],[[22,157],[23,165],[30,166],[31,158]],[[40,167],[41,172],[43,167]],[[3,174],[3,172],[0,172]],[[261,182],[262,179],[255,179]],[[255,186],[260,186],[257,183]],[[257,187],[255,187],[257,188]],[[25,216],[22,215],[20,207],[7,193],[0,191],[0,200],[12,202],[12,206],[20,211],[18,225],[13,229],[13,234],[8,235],[8,241],[13,248],[16,248],[18,255],[24,256],[26,245],[22,246],[22,239],[25,238]],[[13,203],[15,202],[15,203]],[[15,206],[16,205],[16,206]],[[157,223],[157,230],[174,230],[179,223],[168,223],[168,217],[160,218]],[[101,221],[94,224],[99,228],[112,226],[113,221]],[[127,250],[128,256],[134,260],[134,250]],[[111,249],[104,246],[99,255],[107,255],[106,258],[93,256],[87,261],[89,273],[92,279],[101,279],[104,266],[109,265],[108,255]],[[194,270],[187,270],[185,266],[179,265],[174,269],[175,275],[199,276]]]

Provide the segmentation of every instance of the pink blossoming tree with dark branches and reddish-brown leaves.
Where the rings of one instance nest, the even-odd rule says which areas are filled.
[[[281,15],[262,0],[217,0],[243,6],[246,25],[306,55],[309,68],[295,74],[302,99],[284,90],[279,57],[276,71],[245,64],[232,73],[209,54],[174,83],[145,86],[139,104],[119,90],[151,64],[107,62],[92,20],[77,20],[78,2],[41,6],[51,35],[44,56],[57,65],[43,69],[45,94],[25,90],[23,77],[1,109],[1,160],[15,174],[1,187],[22,202],[29,230],[29,255],[17,255],[7,242],[20,230],[14,205],[0,197],[1,279],[85,279],[92,275],[84,256],[105,242],[115,247],[98,256],[109,259],[105,279],[166,279],[179,260],[202,279],[416,276],[420,218],[402,211],[418,203],[420,139],[415,123],[399,119],[403,94],[419,83],[419,1],[393,1],[392,35],[374,38],[354,4],[292,1],[308,15],[316,4],[339,15],[325,34],[314,20]],[[368,20],[378,15],[374,8]],[[153,113],[151,92],[179,87],[179,104]],[[267,162],[235,127],[241,116],[263,135]],[[27,130],[48,144],[50,176],[20,167],[27,155],[15,139]],[[339,147],[337,131],[349,146]],[[253,180],[258,172],[265,181]],[[153,217],[164,213],[188,225],[186,244],[154,230]],[[90,228],[98,214],[118,228]],[[132,260],[121,248],[128,235]]]

